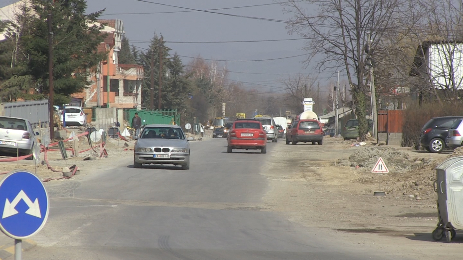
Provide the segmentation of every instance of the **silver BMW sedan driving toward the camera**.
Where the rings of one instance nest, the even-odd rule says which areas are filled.
[[[141,168],[143,164],[180,165],[183,170],[190,168],[190,145],[180,126],[148,124],[137,137],[134,168]]]

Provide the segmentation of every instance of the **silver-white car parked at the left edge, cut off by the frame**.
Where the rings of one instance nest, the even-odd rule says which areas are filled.
[[[0,117],[0,155],[33,154],[36,135],[27,119]],[[26,159],[32,160],[33,156]]]

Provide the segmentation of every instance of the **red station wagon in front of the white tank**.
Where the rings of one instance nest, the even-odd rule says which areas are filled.
[[[313,119],[299,119],[295,120],[291,126],[286,130],[286,144],[291,142],[297,144],[298,142],[316,142],[323,144],[323,130],[319,121]]]

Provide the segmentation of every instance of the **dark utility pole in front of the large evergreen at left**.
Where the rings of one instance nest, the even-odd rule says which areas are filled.
[[[54,2],[54,1],[53,1]],[[51,7],[49,7],[47,24],[48,24],[48,85],[49,90],[49,99],[48,99],[48,108],[50,112],[50,141],[55,139],[55,109],[53,107],[53,31],[51,30]],[[63,118],[64,119],[64,118]]]

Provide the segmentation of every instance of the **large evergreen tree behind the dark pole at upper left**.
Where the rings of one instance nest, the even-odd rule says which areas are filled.
[[[91,70],[105,59],[97,47],[103,26],[88,26],[104,11],[85,14],[85,0],[31,0],[34,15],[21,35],[21,52],[15,77],[4,82],[10,88],[35,88],[48,94],[48,10],[52,12],[55,105],[69,103],[70,95],[83,91]],[[21,85],[22,84],[22,85]],[[28,86],[27,86],[28,85]]]

